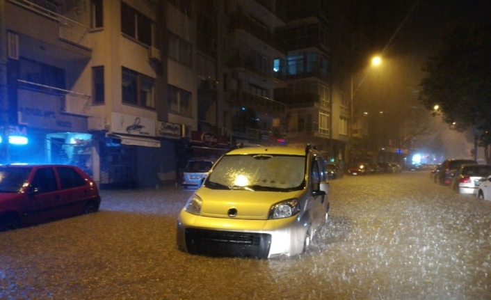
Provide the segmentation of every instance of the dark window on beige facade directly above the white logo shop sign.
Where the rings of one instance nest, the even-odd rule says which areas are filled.
[[[154,79],[123,67],[122,102],[154,109]]]

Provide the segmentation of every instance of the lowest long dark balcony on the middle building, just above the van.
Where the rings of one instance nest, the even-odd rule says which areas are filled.
[[[251,109],[266,111],[268,113],[282,114],[285,111],[285,106],[281,102],[267,97],[252,95],[241,90],[230,91],[228,102],[234,106],[248,106]]]

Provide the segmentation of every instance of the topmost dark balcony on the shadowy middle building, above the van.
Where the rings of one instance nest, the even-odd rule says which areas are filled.
[[[255,36],[259,40],[270,45],[274,49],[281,53],[285,53],[284,41],[278,38],[275,33],[268,31],[264,26],[252,22],[250,17],[244,15],[243,13],[236,12],[230,15],[230,31],[243,30],[250,35]]]

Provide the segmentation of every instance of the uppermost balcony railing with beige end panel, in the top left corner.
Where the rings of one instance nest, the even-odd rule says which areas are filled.
[[[8,0],[12,3],[17,4],[18,6],[22,6],[28,10],[31,10],[34,13],[38,13],[39,15],[44,15],[49,19],[58,22],[58,38],[61,40],[65,40],[66,42],[71,42],[75,45],[79,45],[81,47],[85,47],[90,49],[90,34],[89,27],[78,22],[75,22],[72,19],[67,17],[63,17],[63,15],[58,15],[52,10],[48,8],[44,8],[42,6],[38,6],[31,1],[26,0]]]

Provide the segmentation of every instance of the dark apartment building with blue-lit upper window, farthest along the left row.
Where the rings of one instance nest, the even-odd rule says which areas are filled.
[[[275,100],[286,105],[287,144],[313,143],[328,157],[338,157],[335,139],[347,136],[347,122],[339,130],[333,122],[332,38],[328,1],[287,1],[288,20],[281,31],[287,55],[275,60],[275,76],[287,83],[275,90]],[[339,113],[339,109],[337,109]],[[333,130],[333,124],[337,131]],[[341,125],[343,126],[343,125]],[[339,141],[346,142],[341,138]]]

